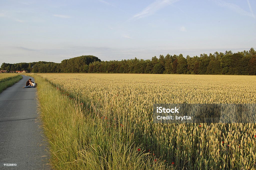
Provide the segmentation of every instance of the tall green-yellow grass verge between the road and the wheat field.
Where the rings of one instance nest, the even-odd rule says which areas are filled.
[[[54,169],[166,169],[153,154],[137,149],[122,128],[92,118],[90,104],[63,95],[40,76],[33,77]]]

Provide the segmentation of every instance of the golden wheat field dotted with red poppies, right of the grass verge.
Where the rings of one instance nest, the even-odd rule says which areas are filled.
[[[37,75],[70,101],[79,100],[85,116],[101,127],[93,140],[105,160],[114,161],[108,153],[117,143],[130,142],[130,150],[164,169],[256,169],[255,123],[157,124],[152,117],[156,103],[255,104],[256,76]]]

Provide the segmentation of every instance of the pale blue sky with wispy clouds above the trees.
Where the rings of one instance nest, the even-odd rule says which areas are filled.
[[[256,50],[256,1],[0,1],[0,64]]]

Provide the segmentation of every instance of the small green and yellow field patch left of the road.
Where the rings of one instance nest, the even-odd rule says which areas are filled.
[[[0,74],[0,93],[3,92],[7,87],[12,86],[14,83],[17,83],[22,79],[21,75],[14,74]]]

